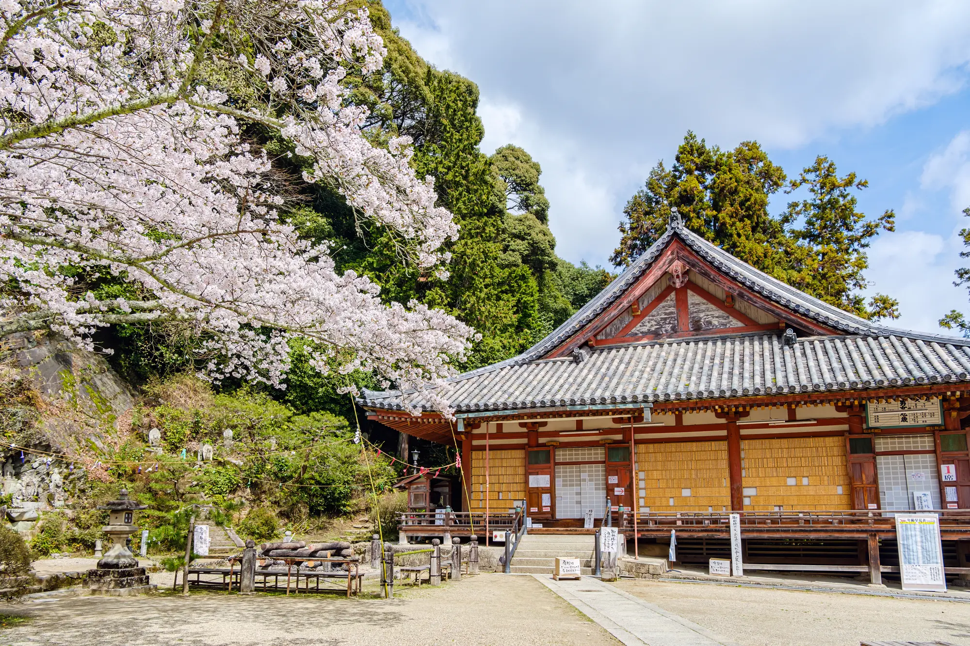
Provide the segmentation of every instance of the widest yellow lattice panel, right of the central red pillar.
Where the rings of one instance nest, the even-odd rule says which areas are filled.
[[[844,437],[745,439],[741,467],[745,488],[757,489],[745,509],[852,508]]]

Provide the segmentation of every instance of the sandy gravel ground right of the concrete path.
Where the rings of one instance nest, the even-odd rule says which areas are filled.
[[[622,590],[742,646],[857,646],[863,639],[970,646],[970,603],[623,580]]]

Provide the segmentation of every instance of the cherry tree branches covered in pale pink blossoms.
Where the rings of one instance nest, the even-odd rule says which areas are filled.
[[[307,182],[395,236],[401,262],[438,275],[455,240],[406,138],[362,133],[348,70],[380,68],[367,11],[342,0],[0,0],[0,338],[51,330],[91,347],[100,326],[188,321],[206,374],[279,385],[287,340],[314,367],[441,386],[472,331],[422,305],[382,304],[339,275],[327,244],[287,222],[280,137]],[[240,101],[207,79],[249,90]],[[64,268],[108,268],[147,294],[99,300]],[[447,407],[446,389],[423,395]]]

